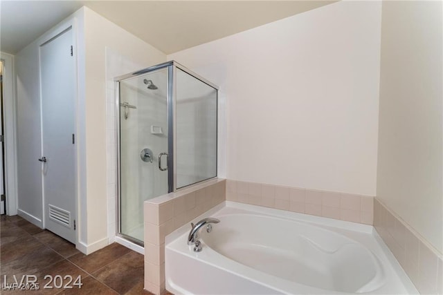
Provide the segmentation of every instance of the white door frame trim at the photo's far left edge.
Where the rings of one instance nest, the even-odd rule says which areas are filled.
[[[15,89],[14,55],[0,52],[3,61],[3,126],[5,132],[5,192],[6,214],[17,215],[17,99]],[[10,114],[10,115],[6,115]]]

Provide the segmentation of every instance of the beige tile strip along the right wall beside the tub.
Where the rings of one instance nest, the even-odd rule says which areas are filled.
[[[377,198],[374,227],[421,294],[443,294],[442,254]]]

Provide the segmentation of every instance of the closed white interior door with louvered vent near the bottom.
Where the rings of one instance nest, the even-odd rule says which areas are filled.
[[[40,47],[44,226],[75,243],[75,59],[73,32]]]

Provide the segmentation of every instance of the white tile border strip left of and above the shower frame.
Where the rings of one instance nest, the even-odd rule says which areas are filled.
[[[116,97],[114,77],[139,70],[147,65],[137,63],[106,48],[106,160],[107,160],[107,212],[108,242],[116,236],[116,180],[117,180],[117,143],[116,143]]]

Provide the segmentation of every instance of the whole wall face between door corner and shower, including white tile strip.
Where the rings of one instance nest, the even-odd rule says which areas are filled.
[[[95,208],[84,210],[88,212],[85,232],[88,243],[100,244],[105,237],[108,242],[113,242],[116,233],[116,117],[114,86],[110,86],[113,81],[109,80],[159,64],[165,61],[165,55],[93,10],[84,7],[82,12],[84,117],[81,124],[87,157],[84,193],[86,206]],[[114,53],[112,56],[118,59],[109,59],[109,53]]]

